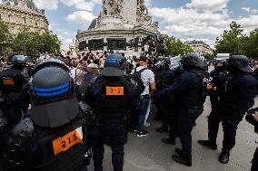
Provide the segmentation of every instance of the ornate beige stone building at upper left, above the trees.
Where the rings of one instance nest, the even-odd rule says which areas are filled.
[[[33,32],[48,31],[45,10],[38,9],[33,0],[2,0],[0,22],[8,24],[10,33],[14,35],[23,26],[27,26]]]

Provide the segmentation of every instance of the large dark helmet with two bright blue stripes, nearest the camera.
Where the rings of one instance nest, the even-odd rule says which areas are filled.
[[[58,128],[75,119],[79,106],[72,78],[59,64],[35,72],[30,81],[32,119],[43,128]]]

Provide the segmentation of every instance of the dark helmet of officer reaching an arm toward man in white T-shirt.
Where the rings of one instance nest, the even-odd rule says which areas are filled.
[[[192,66],[197,67],[200,69],[204,69],[205,67],[208,67],[208,65],[204,62],[202,62],[198,56],[198,54],[186,54],[182,57],[180,61],[184,66]]]

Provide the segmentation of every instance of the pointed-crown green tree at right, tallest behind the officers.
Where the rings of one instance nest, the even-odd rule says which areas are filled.
[[[243,28],[241,24],[232,22],[230,24],[230,30],[225,30],[221,36],[221,39],[217,38],[216,40],[216,53],[245,53],[244,46],[247,43],[247,37],[243,34]]]

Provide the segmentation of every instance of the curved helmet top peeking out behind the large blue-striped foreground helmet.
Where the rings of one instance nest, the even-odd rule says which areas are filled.
[[[38,60],[35,62],[35,68],[34,68],[34,73],[37,71],[40,71],[41,69],[45,67],[50,67],[50,66],[55,66],[64,69],[65,71],[69,72],[68,67],[66,67],[65,63],[55,59],[55,58],[46,58],[42,60]]]

